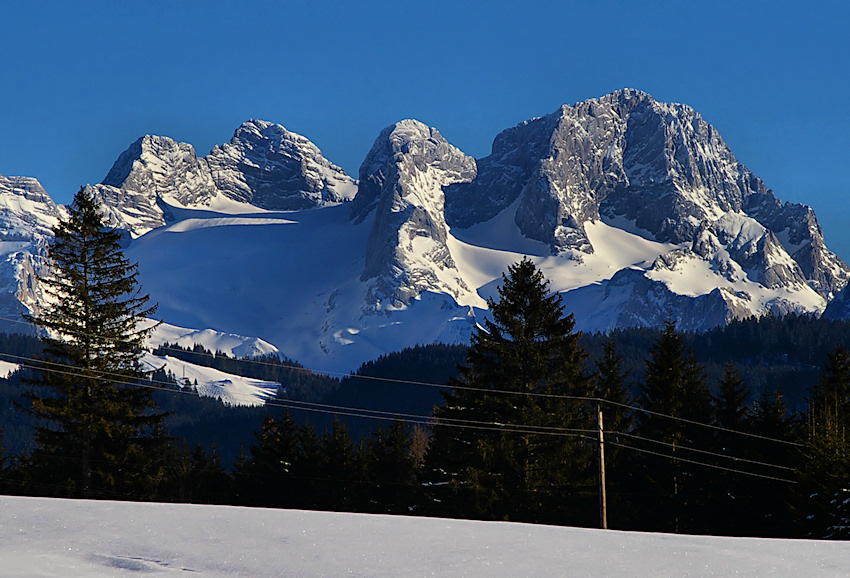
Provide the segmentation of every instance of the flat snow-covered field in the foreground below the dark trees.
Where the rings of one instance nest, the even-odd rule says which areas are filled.
[[[0,498],[3,576],[846,576],[850,543]]]

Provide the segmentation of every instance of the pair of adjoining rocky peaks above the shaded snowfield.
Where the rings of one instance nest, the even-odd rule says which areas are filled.
[[[109,224],[133,237],[171,222],[172,208],[300,210],[348,201],[356,190],[316,145],[261,120],[242,124],[206,157],[190,144],[144,136],[92,187]]]

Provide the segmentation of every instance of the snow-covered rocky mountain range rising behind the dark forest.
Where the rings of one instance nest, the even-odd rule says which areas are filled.
[[[507,129],[478,160],[404,120],[358,176],[252,120],[206,157],[142,137],[94,190],[166,321],[324,371],[466,341],[523,256],[583,330],[819,315],[850,278],[809,207],[780,202],[692,108],[635,90]]]

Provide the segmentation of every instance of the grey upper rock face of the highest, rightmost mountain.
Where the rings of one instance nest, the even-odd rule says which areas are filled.
[[[446,189],[453,227],[503,210],[553,254],[592,254],[586,224],[620,218],[766,287],[805,283],[828,300],[850,277],[809,207],[781,204],[692,108],[635,90],[502,132],[477,178]]]

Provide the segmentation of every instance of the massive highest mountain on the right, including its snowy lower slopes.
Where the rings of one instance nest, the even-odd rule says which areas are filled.
[[[509,211],[524,236],[579,263],[597,252],[587,226],[600,220],[675,245],[567,293],[587,329],[820,313],[850,272],[809,207],[782,205],[692,108],[635,90],[502,132],[478,177],[447,187],[446,199],[453,227]],[[695,277],[704,282],[689,287]]]

